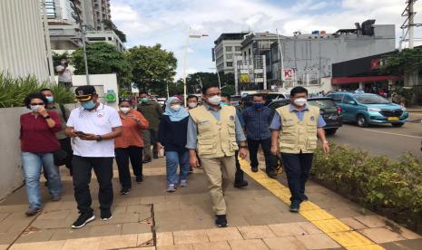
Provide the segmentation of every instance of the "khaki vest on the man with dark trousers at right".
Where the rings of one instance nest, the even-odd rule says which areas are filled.
[[[290,105],[280,107],[276,111],[281,117],[280,152],[313,153],[317,149],[319,108],[309,106],[309,111],[305,111],[301,121],[295,112],[290,112]]]

